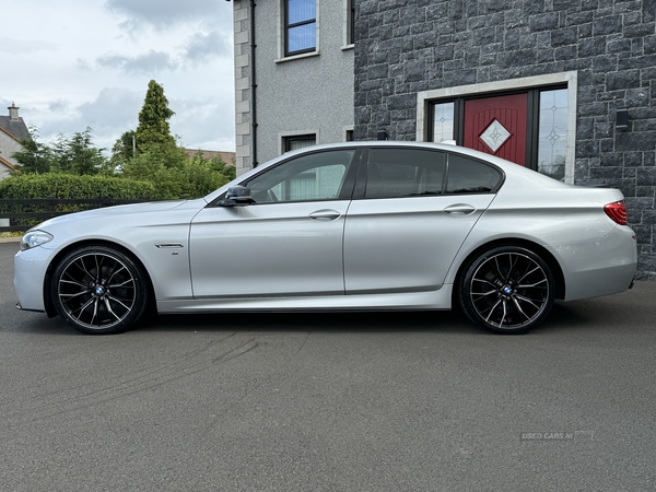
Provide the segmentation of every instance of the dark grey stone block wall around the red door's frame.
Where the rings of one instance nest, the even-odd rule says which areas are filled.
[[[655,17],[655,0],[359,0],[355,139],[415,140],[422,91],[574,72],[573,180],[622,190],[656,279]]]

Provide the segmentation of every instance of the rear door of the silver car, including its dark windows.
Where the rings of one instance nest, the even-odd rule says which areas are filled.
[[[365,190],[347,215],[347,294],[440,289],[502,179],[457,153],[371,149]]]

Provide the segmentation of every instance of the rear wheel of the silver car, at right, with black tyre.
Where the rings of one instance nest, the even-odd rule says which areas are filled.
[[[500,246],[467,263],[458,297],[477,325],[495,333],[525,333],[544,319],[554,290],[542,258],[522,247]]]

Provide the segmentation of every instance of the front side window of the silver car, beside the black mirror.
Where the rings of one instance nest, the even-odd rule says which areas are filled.
[[[256,203],[335,200],[354,153],[339,150],[302,155],[254,177],[246,186]]]

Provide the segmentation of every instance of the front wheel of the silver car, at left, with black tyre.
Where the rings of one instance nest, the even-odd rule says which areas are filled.
[[[59,315],[83,333],[119,333],[136,324],[148,301],[143,269],[106,246],[85,246],[55,268],[52,302]]]

